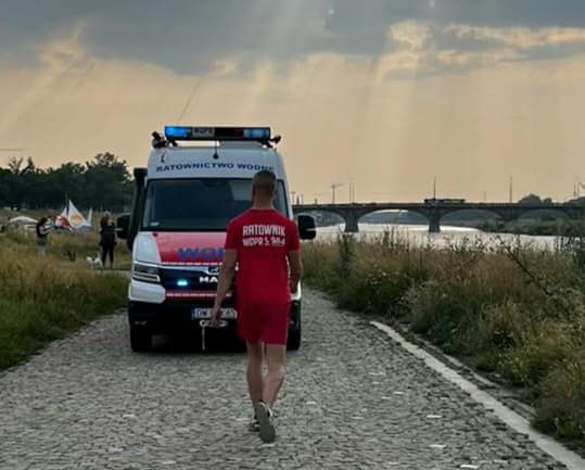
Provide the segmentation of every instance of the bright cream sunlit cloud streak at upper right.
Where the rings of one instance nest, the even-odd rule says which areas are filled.
[[[387,29],[380,68],[390,78],[416,78],[509,62],[563,59],[585,52],[585,28],[488,27],[405,21]]]

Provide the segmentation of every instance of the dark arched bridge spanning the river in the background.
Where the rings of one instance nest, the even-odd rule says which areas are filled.
[[[429,220],[429,231],[441,231],[441,219],[447,214],[459,211],[484,211],[495,214],[504,221],[518,220],[523,215],[535,211],[557,212],[571,219],[585,216],[585,207],[574,203],[520,204],[495,202],[465,202],[459,200],[428,200],[425,202],[372,202],[345,204],[296,204],[295,214],[308,212],[328,212],[338,214],[345,220],[346,232],[358,232],[359,219],[379,211],[410,211]]]

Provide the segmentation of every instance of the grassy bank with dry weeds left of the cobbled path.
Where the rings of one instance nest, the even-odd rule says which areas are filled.
[[[87,265],[94,239],[50,236],[41,256],[34,237],[0,236],[0,370],[125,304],[127,279]]]

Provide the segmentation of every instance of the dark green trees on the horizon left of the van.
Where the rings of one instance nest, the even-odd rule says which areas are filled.
[[[60,208],[71,199],[79,208],[122,212],[132,199],[128,164],[105,152],[86,163],[39,168],[31,157],[0,167],[0,207]]]

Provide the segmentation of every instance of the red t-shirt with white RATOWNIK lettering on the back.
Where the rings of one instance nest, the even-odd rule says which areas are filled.
[[[231,220],[226,250],[238,251],[238,302],[290,302],[287,255],[298,249],[296,224],[276,209],[251,208]]]

